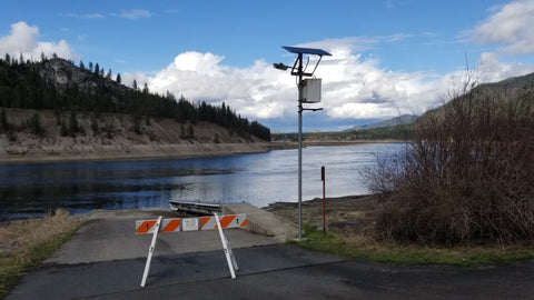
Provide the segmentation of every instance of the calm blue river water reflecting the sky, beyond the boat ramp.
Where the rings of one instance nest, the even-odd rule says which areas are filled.
[[[367,192],[359,171],[377,154],[403,144],[303,149],[303,200]],[[297,150],[231,157],[141,161],[63,162],[0,167],[0,219],[42,216],[57,208],[168,208],[169,200],[249,202],[265,207],[298,201]]]

